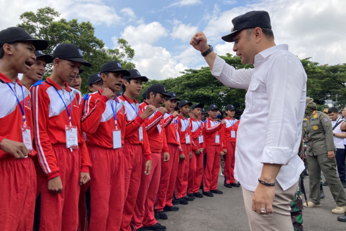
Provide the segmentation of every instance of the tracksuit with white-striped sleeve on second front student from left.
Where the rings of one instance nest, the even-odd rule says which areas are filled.
[[[89,172],[91,167],[80,129],[81,93],[67,83],[62,89],[47,78],[31,88],[31,99],[39,166],[47,180],[60,176],[63,184],[63,192],[54,194],[48,191],[45,181],[41,191],[40,230],[76,229],[80,172]],[[77,127],[77,149],[66,148],[65,126],[70,122],[64,103],[68,110],[72,105],[71,124]]]

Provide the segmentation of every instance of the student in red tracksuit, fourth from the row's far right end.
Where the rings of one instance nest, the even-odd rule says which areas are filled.
[[[178,172],[175,183],[175,198],[180,204],[188,204],[193,201],[193,197],[186,195],[188,190],[189,162],[192,157],[192,133],[189,125],[189,119],[186,115],[190,112],[191,102],[181,100],[179,103],[180,115],[177,117],[177,126],[180,138],[181,151],[179,154]]]

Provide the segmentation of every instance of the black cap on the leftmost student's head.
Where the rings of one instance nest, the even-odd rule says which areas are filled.
[[[43,39],[34,39],[31,37],[24,28],[13,26],[0,31],[0,47],[5,43],[14,42],[33,42],[36,50],[45,50],[48,46],[48,42]]]

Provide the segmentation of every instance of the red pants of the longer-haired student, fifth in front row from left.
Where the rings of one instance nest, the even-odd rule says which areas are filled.
[[[140,179],[139,192],[131,221],[134,230],[157,223],[154,217],[154,203],[158,185],[160,184],[162,156],[161,153],[152,152],[152,168],[149,176],[144,174],[146,160],[143,157],[142,177]]]

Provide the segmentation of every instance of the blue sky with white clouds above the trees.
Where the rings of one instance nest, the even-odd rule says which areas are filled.
[[[346,1],[340,0],[0,0],[0,5],[0,29],[19,23],[22,12],[45,6],[69,20],[89,20],[107,47],[125,38],[135,49],[137,69],[150,79],[177,77],[184,69],[205,66],[189,45],[200,30],[219,55],[234,54],[233,44],[221,36],[230,32],[232,18],[250,10],[268,11],[276,44],[288,44],[298,57],[312,57],[320,64],[346,62]]]

